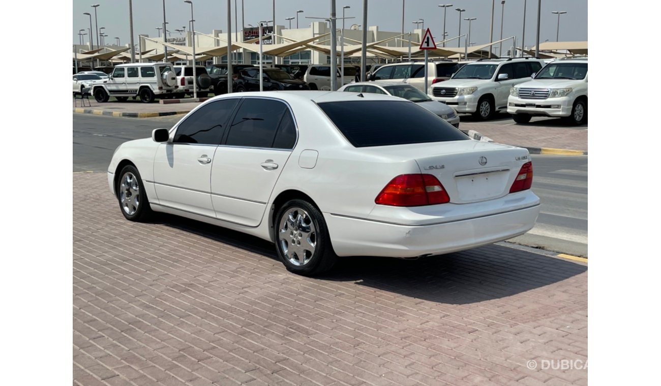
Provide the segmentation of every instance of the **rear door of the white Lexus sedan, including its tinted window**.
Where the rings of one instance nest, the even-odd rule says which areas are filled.
[[[295,121],[284,102],[243,98],[212,166],[217,218],[258,226],[295,142]]]

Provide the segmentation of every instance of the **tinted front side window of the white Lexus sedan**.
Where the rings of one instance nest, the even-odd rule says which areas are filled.
[[[219,145],[229,115],[239,103],[238,99],[225,99],[206,104],[179,124],[175,143]]]

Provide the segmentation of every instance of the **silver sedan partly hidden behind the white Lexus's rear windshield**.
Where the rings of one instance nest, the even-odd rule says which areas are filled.
[[[350,83],[340,87],[338,91],[373,92],[375,94],[392,95],[410,100],[411,102],[420,104],[420,107],[438,115],[442,119],[445,119],[447,123],[459,129],[459,115],[457,115],[457,112],[453,108],[444,103],[432,100],[424,92],[404,82],[377,80],[376,82]]]

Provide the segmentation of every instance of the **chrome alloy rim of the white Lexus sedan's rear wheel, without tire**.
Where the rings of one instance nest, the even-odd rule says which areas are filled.
[[[317,247],[317,229],[310,215],[292,207],[280,219],[278,229],[278,242],[286,259],[298,267],[309,263]]]

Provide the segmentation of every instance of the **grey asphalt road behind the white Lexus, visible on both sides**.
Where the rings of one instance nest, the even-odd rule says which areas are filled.
[[[503,124],[507,124],[506,116],[502,114]],[[73,172],[105,172],[121,143],[149,137],[153,129],[172,127],[178,119],[180,116],[136,119],[73,114]],[[549,125],[554,119],[543,120]],[[535,228],[510,241],[587,257],[588,156],[532,158],[532,188],[541,198],[541,213]]]

